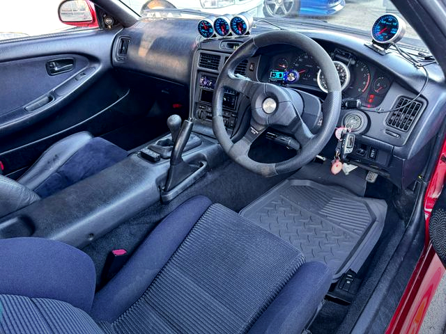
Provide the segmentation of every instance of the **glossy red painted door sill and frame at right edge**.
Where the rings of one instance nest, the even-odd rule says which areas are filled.
[[[406,290],[399,301],[386,334],[417,334],[420,331],[424,315],[436,292],[445,267],[433,250],[429,239],[429,218],[433,205],[443,189],[446,173],[446,141],[438,159],[436,170],[429,182],[424,198],[424,216],[426,218],[426,241],[420,260],[410,277]]]

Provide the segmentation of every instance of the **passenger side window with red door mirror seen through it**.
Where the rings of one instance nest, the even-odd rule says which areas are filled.
[[[89,0],[0,1],[0,40],[95,27],[98,19]]]

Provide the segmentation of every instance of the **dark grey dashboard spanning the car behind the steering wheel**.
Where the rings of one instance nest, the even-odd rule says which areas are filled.
[[[212,137],[215,81],[226,59],[249,35],[201,38],[198,21],[199,18],[141,19],[117,34],[112,61],[118,70],[140,72],[187,88],[193,131]],[[272,29],[275,27],[259,22],[251,33]],[[360,100],[362,104],[360,108],[342,109],[339,117],[338,126],[355,127],[355,150],[348,155],[348,161],[387,177],[400,188],[417,180],[442,124],[438,120],[446,116],[446,82],[441,68],[435,64],[426,67],[426,81],[426,73],[397,52],[379,54],[367,47],[370,37],[334,28],[290,25],[287,29],[316,40],[337,67],[344,84],[343,99]],[[123,39],[129,41],[125,58],[118,54]],[[301,49],[286,45],[265,47],[240,63],[237,70],[252,80],[316,95],[321,103],[325,99],[323,73]],[[245,133],[249,114],[246,97],[231,90],[225,92],[223,117],[233,138]],[[332,159],[336,143],[333,136],[321,154]]]

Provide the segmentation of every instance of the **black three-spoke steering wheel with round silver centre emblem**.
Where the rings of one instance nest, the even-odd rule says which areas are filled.
[[[291,88],[252,81],[234,74],[236,66],[254,56],[261,47],[291,45],[307,51],[314,57],[325,76],[328,94],[322,107],[323,122],[317,134],[312,134],[305,118],[306,105],[302,93]],[[251,101],[252,116],[246,134],[236,143],[231,141],[223,120],[222,102],[224,89],[231,88],[242,93]],[[309,95],[306,93],[306,95]],[[315,97],[316,98],[316,97]],[[327,52],[311,38],[293,31],[270,31],[247,40],[236,49],[223,66],[215,83],[213,97],[213,131],[226,154],[241,166],[265,177],[289,173],[312,161],[327,145],[337,125],[341,110],[341,83],[334,63]],[[308,104],[308,108],[314,104]],[[312,111],[314,114],[314,111]],[[263,164],[248,157],[249,148],[268,127],[286,129],[300,144],[295,157],[275,164]]]

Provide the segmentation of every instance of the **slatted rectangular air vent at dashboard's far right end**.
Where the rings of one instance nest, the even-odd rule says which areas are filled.
[[[401,97],[393,109],[400,108],[401,106],[403,108],[392,111],[387,118],[387,125],[406,132],[413,125],[413,121],[421,110],[422,103],[418,101],[410,102],[410,99],[407,97]]]

